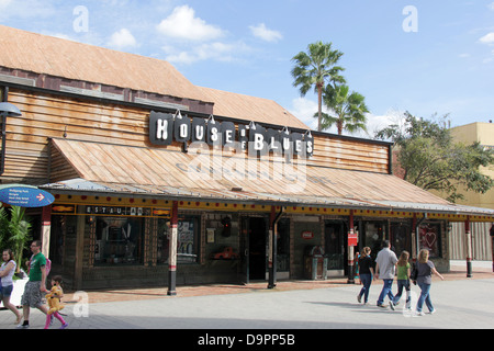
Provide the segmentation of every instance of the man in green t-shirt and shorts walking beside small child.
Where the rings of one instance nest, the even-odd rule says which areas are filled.
[[[40,240],[34,240],[31,244],[33,257],[27,262],[30,265],[30,280],[25,284],[24,294],[21,298],[24,322],[18,326],[19,329],[30,327],[31,307],[40,309],[45,315],[48,312],[46,306],[43,305],[42,294],[46,293],[46,258],[41,252],[41,248],[42,244]]]

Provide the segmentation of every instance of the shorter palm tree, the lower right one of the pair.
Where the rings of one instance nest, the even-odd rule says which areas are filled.
[[[328,86],[324,91],[324,103],[328,109],[333,110],[336,116],[323,113],[323,131],[336,124],[338,135],[341,135],[344,129],[350,133],[357,131],[367,132],[366,113],[369,112],[369,109],[364,100],[366,98],[358,92],[352,91],[350,93],[348,86]],[[314,114],[314,117],[316,116]]]

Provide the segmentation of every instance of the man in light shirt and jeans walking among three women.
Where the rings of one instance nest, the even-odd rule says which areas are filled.
[[[396,254],[391,251],[391,244],[388,240],[382,242],[382,250],[379,251],[375,258],[375,279],[381,279],[383,281],[383,286],[381,294],[378,298],[378,307],[386,308],[384,305],[384,298],[388,296],[390,298],[390,307],[394,310],[393,304],[393,280],[395,274],[395,265],[397,262]]]

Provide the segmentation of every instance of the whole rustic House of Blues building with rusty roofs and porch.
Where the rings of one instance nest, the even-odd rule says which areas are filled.
[[[449,223],[494,218],[394,177],[389,143],[308,131],[162,60],[4,26],[0,53],[22,112],[0,181],[55,195],[31,215],[74,288],[350,276],[383,239],[447,271]]]

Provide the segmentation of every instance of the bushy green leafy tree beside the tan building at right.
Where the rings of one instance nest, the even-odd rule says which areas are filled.
[[[458,185],[476,193],[494,186],[494,180],[480,172],[481,166],[494,163],[494,152],[479,143],[453,143],[447,117],[427,121],[406,112],[403,127],[391,125],[375,137],[395,143],[406,181],[425,190],[445,192],[449,201],[456,202],[463,199]]]

